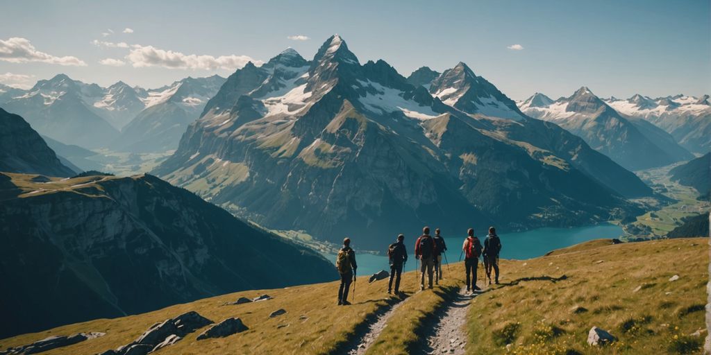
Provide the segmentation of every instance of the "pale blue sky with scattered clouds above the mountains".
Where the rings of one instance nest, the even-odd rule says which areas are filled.
[[[463,61],[513,99],[582,85],[602,97],[700,95],[711,92],[710,2],[6,1],[0,82],[64,72],[160,87],[227,76],[289,46],[310,59],[338,33],[361,62],[407,76]]]

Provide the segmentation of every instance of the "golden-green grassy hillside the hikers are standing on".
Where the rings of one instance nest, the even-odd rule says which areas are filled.
[[[612,244],[589,241],[525,261],[501,261],[501,285],[461,295],[464,268],[445,266],[444,282],[417,291],[403,274],[402,297],[387,279],[355,283],[353,305],[336,305],[337,283],[211,297],[114,320],[93,320],[0,340],[0,349],[51,335],[106,335],[44,354],[97,354],[128,344],[151,324],[196,311],[220,322],[240,317],[249,330],[197,340],[203,329],[156,354],[695,354],[706,335],[708,239]],[[294,268],[292,272],[298,272]],[[225,305],[239,297],[271,300]],[[351,297],[349,297],[351,298]],[[286,313],[269,317],[275,310]],[[618,338],[587,344],[597,326]]]

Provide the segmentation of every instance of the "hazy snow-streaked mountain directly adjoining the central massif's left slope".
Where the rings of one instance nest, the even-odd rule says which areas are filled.
[[[111,143],[117,151],[155,152],[178,148],[188,124],[198,119],[208,99],[215,96],[225,78],[186,79],[143,93],[146,108],[122,129]]]

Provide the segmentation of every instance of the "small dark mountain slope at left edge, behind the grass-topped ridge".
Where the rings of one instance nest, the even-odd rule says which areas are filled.
[[[42,137],[21,116],[0,109],[0,171],[73,176]]]

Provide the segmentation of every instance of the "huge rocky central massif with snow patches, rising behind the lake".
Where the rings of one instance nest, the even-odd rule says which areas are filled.
[[[464,63],[416,73],[360,65],[338,35],[313,60],[286,50],[249,63],[154,173],[269,228],[373,248],[424,224],[594,223],[652,194]]]

